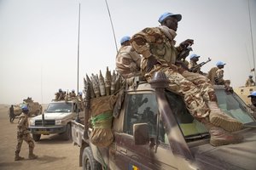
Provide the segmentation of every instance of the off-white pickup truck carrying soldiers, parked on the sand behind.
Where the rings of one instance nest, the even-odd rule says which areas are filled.
[[[63,139],[71,139],[71,121],[76,119],[78,114],[79,119],[83,121],[84,113],[76,99],[53,100],[42,115],[30,119],[29,129],[32,138],[39,141],[41,135],[59,133]]]

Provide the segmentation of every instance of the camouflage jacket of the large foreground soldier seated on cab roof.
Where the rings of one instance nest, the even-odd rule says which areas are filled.
[[[170,30],[170,29],[169,29]],[[143,75],[147,73],[149,57],[156,59],[154,65],[170,66],[175,64],[177,54],[182,51],[181,47],[175,47],[173,40],[175,35],[167,36],[160,27],[145,28],[131,37],[131,46],[138,54],[143,54],[141,69]]]

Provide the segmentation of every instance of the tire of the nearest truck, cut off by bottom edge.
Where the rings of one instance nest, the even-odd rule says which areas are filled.
[[[82,165],[83,170],[102,170],[102,165],[94,159],[90,147],[84,148]]]

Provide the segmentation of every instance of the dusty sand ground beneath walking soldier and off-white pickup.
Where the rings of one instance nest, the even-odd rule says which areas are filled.
[[[14,161],[16,139],[16,118],[9,122],[9,105],[0,105],[0,170],[34,170],[34,169],[82,169],[79,167],[79,147],[73,146],[72,139],[64,141],[60,135],[43,135],[36,142],[36,160],[28,160],[28,145],[23,142],[20,156],[25,160]]]

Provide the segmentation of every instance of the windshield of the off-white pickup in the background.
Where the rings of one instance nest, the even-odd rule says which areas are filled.
[[[72,103],[50,103],[46,110],[47,113],[53,112],[71,112]]]

